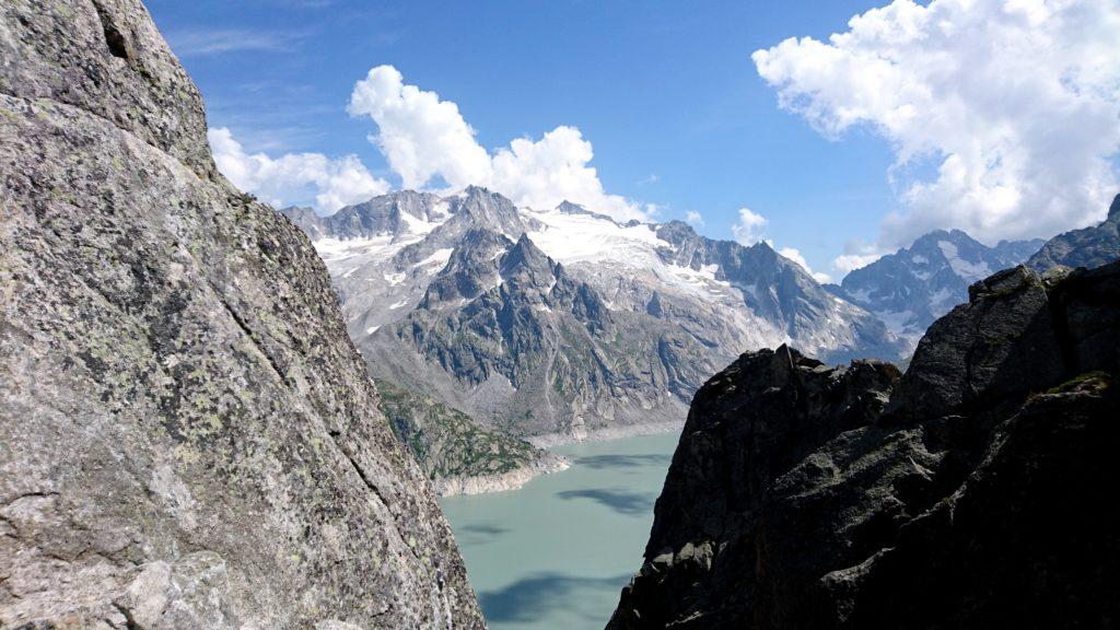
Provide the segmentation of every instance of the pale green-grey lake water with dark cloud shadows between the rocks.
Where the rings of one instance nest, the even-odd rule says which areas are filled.
[[[642,564],[679,434],[553,448],[568,470],[440,500],[493,630],[601,630]]]

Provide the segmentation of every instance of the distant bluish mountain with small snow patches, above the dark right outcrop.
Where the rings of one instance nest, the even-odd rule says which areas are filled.
[[[971,284],[1023,263],[1042,243],[1035,239],[988,247],[960,230],[937,230],[830,288],[916,343],[934,319],[968,302]]]

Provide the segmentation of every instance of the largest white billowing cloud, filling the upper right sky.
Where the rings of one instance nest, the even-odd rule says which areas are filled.
[[[936,228],[1051,235],[1100,220],[1117,192],[1116,0],[896,0],[753,59],[823,135],[866,124],[890,141],[906,211],[885,219],[885,245]],[[928,160],[935,176],[911,175]]]

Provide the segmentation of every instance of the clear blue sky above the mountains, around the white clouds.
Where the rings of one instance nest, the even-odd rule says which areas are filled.
[[[399,185],[367,140],[377,126],[346,111],[355,82],[389,64],[405,84],[454,101],[488,150],[519,137],[539,139],[557,126],[576,127],[594,145],[591,166],[608,193],[656,204],[659,220],[699,212],[699,230],[713,238],[731,238],[738,210],[749,207],[766,217],[766,239],[799,249],[811,267],[833,276],[842,275],[832,267],[837,256],[876,249],[855,243],[894,244],[884,241],[884,217],[909,210],[911,183],[936,178],[941,156],[952,148],[934,140],[931,150],[922,140],[916,150],[927,157],[892,169],[899,147],[917,142],[913,130],[877,130],[893,124],[879,112],[836,123],[819,112],[780,108],[778,90],[759,75],[752,53],[794,36],[827,40],[876,4],[148,2],[200,87],[212,129],[228,128],[248,152],[353,154],[373,175]],[[803,65],[790,67],[813,67],[804,65],[815,63],[805,61],[809,52],[793,53],[791,63]],[[902,53],[897,64],[905,67],[916,56]],[[793,71],[780,78],[792,83],[791,96],[836,91]],[[821,105],[848,111],[843,99],[852,91],[841,92]],[[1109,155],[1114,147],[1093,150]],[[983,231],[982,217],[972,214],[934,213],[923,225],[968,228],[972,221]],[[1000,230],[980,235],[1028,235]]]

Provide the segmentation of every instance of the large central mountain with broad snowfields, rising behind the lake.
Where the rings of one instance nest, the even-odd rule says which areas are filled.
[[[328,217],[283,212],[326,261],[374,376],[515,435],[680,421],[696,388],[749,349],[902,350],[769,245],[680,222],[517,209],[477,187],[395,193]]]

